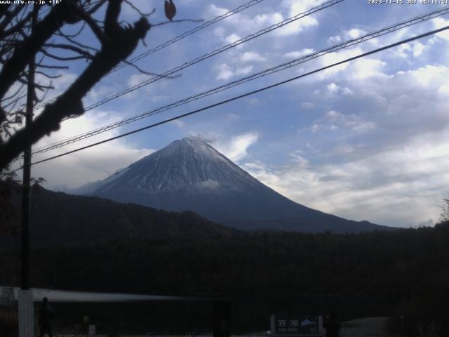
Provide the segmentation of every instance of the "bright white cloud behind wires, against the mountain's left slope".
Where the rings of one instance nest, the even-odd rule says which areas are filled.
[[[114,123],[117,120],[119,120],[119,115],[114,112],[89,112],[76,119],[69,119],[63,122],[58,132],[52,133],[50,137],[43,138],[34,148],[65,140],[88,130],[98,128],[99,126]],[[59,150],[38,154],[34,157],[34,160],[45,159],[55,154],[66,152],[67,150],[74,150],[118,134],[118,129],[107,131],[97,137],[88,138],[73,145],[61,147]],[[125,140],[113,140],[109,143],[69,154],[65,157],[37,164],[33,166],[33,176],[46,178],[48,185],[44,186],[55,190],[63,190],[65,187],[79,187],[88,181],[92,182],[106,178],[118,169],[128,166],[152,151],[151,149],[136,150],[133,144],[126,143]]]

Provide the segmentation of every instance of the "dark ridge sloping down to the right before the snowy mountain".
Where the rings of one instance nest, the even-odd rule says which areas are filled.
[[[20,200],[15,198],[14,204],[19,212]],[[32,194],[31,216],[32,246],[83,246],[174,237],[206,239],[239,234],[238,230],[213,223],[192,211],[167,212],[43,188]],[[18,228],[19,218],[15,223]],[[11,239],[0,237],[0,244],[13,244]]]

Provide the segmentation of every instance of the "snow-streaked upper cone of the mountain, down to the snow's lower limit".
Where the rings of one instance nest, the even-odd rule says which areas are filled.
[[[204,140],[193,137],[175,140],[120,173],[103,180],[95,194],[116,189],[150,194],[178,190],[227,193],[260,184]]]

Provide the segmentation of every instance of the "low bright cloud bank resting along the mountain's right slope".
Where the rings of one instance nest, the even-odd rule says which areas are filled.
[[[278,169],[260,162],[246,164],[244,169],[313,209],[409,227],[438,215],[436,201],[445,197],[441,185],[449,183],[448,156],[449,143],[405,147],[345,164],[311,165],[304,159]]]

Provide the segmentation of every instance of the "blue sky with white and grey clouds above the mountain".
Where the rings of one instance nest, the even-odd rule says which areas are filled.
[[[245,2],[175,0],[176,18],[210,20]],[[149,72],[166,72],[323,2],[264,0],[140,60],[137,65]],[[133,0],[133,4],[142,11],[156,8],[150,18],[152,23],[165,20],[163,1]],[[58,133],[41,140],[36,147],[153,110],[437,8],[440,6],[424,5],[420,0],[415,5],[342,1],[182,70],[180,77],[156,81],[83,117],[66,121]],[[133,22],[138,15],[126,6],[122,18]],[[196,25],[199,23],[182,22],[153,27],[145,39],[147,47],[140,44],[134,55]],[[36,159],[445,25],[449,25],[449,16],[434,18]],[[95,44],[91,37],[85,39]],[[36,165],[33,175],[46,178],[46,187],[53,190],[79,187],[105,178],[173,140],[195,135],[207,139],[262,183],[305,206],[381,225],[430,225],[438,219],[441,199],[449,196],[448,42],[446,31],[403,44],[192,117]],[[70,84],[85,66],[85,62],[74,62],[62,72],[56,82],[58,89]],[[148,78],[126,67],[95,86],[84,104],[95,103]]]

